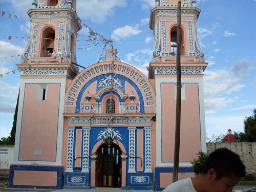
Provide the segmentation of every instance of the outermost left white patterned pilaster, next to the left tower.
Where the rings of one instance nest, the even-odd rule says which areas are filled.
[[[74,152],[75,127],[68,126],[67,129],[68,129],[68,152],[67,152],[66,172],[73,172],[73,152]]]

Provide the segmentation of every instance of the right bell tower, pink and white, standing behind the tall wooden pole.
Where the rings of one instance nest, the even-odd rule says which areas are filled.
[[[172,183],[175,143],[176,89],[181,86],[181,139],[179,179],[193,175],[190,161],[206,152],[203,72],[207,67],[197,37],[201,10],[195,0],[181,0],[181,82],[176,80],[178,0],[156,0],[151,10],[150,29],[154,34],[153,60],[149,78],[155,79],[157,101],[156,186],[161,180]],[[162,168],[165,167],[165,168]],[[158,180],[159,179],[159,180]]]

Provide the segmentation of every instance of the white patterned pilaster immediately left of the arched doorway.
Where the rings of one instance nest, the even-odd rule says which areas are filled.
[[[81,172],[89,173],[89,144],[90,144],[90,126],[83,126],[83,142],[82,142],[82,170]],[[87,157],[87,158],[85,158]]]

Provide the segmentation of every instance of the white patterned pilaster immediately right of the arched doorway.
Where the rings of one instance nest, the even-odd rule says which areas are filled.
[[[128,173],[136,173],[135,170],[135,131],[136,127],[128,127],[129,130],[129,168]],[[133,158],[132,158],[133,157]]]

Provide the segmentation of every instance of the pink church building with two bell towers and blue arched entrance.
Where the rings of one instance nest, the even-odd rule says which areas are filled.
[[[156,0],[151,10],[154,53],[145,77],[121,62],[115,48],[79,72],[76,0],[33,1],[31,38],[17,64],[20,97],[9,187],[162,190],[172,182],[177,3]],[[193,176],[190,161],[206,152],[200,11],[195,0],[181,1],[179,179]]]

